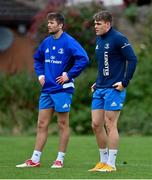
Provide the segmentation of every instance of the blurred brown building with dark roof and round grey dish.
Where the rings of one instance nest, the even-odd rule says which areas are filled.
[[[35,42],[28,29],[37,12],[15,0],[0,0],[0,72],[33,71]]]

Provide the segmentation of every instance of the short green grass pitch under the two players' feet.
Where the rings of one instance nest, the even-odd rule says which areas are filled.
[[[51,169],[58,147],[58,137],[48,138],[40,168],[15,168],[30,158],[34,137],[0,137],[0,179],[148,179],[152,178],[152,137],[122,137],[117,157],[117,171],[88,172],[99,160],[93,136],[72,136],[63,169]],[[123,164],[126,161],[127,164]]]

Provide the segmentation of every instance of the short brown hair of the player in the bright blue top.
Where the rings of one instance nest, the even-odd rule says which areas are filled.
[[[56,20],[58,24],[63,24],[64,26],[64,16],[58,12],[51,12],[47,14],[47,20]]]

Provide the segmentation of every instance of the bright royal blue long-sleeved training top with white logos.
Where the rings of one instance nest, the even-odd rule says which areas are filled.
[[[88,62],[87,53],[73,37],[65,32],[58,39],[49,36],[34,54],[34,68],[37,76],[45,75],[42,92],[73,93],[74,78],[80,74]],[[63,72],[67,72],[69,81],[61,85],[56,82],[56,78]]]

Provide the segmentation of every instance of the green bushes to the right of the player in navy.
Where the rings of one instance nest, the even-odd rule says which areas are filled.
[[[149,32],[149,36],[151,33]],[[129,134],[152,134],[152,38],[140,45],[138,66],[128,87],[126,107],[122,113],[120,130]]]

